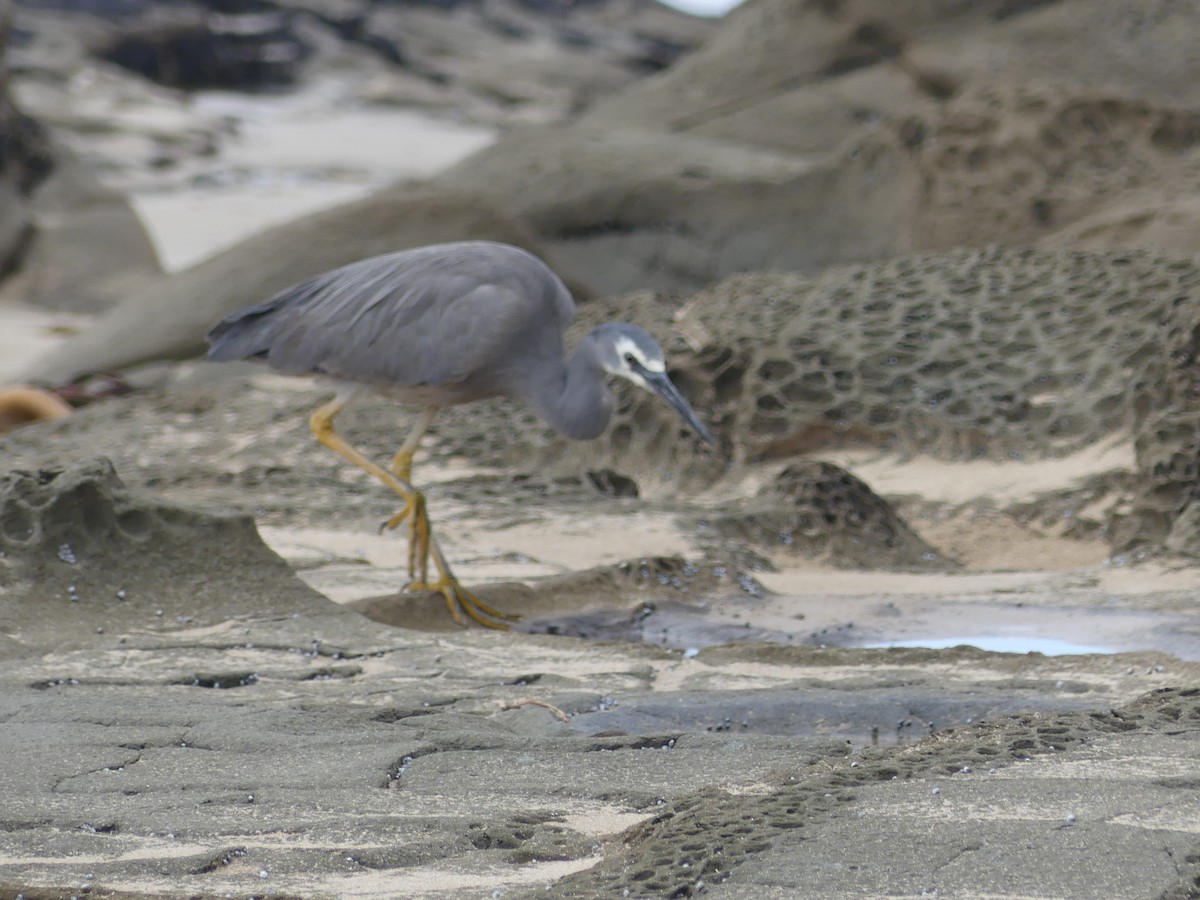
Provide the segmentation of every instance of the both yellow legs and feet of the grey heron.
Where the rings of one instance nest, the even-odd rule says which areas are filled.
[[[335,454],[354,463],[364,472],[370,472],[404,500],[404,508],[388,520],[384,527],[395,528],[404,520],[408,520],[408,575],[413,578],[408,584],[408,589],[436,590],[442,594],[445,598],[446,606],[450,607],[450,614],[461,625],[467,624],[467,620],[463,618],[463,613],[466,612],[467,616],[480,625],[506,629],[508,625],[504,623],[515,620],[517,617],[488,606],[458,583],[458,580],[450,571],[450,566],[440,547],[438,547],[437,541],[433,539],[430,516],[425,509],[425,496],[409,484],[408,475],[412,474],[413,451],[425,430],[433,420],[437,407],[430,407],[425,410],[413,433],[408,436],[408,439],[392,458],[392,468],[396,472],[392,475],[346,443],[342,436],[334,428],[334,416],[342,410],[344,402],[341,398],[326,403],[312,414],[308,419],[308,426],[312,428],[312,433],[317,440],[324,446],[328,446]],[[428,580],[428,560],[431,554],[433,564],[438,570],[438,578],[433,582]]]

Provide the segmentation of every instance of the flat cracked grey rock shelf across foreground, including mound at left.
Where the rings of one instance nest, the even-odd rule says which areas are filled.
[[[1195,664],[421,634],[102,462],[11,473],[0,510],[6,894],[743,896],[816,856],[822,890],[1194,877],[1200,695],[1145,692]],[[1004,862],[930,863],[914,822]]]

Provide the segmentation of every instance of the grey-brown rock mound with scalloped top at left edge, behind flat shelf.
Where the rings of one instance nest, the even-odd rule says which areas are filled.
[[[84,640],[331,608],[248,515],[128,490],[103,458],[0,475],[0,638],[61,644],[65,620]]]

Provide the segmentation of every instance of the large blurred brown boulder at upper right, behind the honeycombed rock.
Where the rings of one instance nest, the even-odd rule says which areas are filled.
[[[448,178],[515,179],[511,209],[601,293],[1080,232],[1193,253],[1198,14],[763,0],[661,77]]]

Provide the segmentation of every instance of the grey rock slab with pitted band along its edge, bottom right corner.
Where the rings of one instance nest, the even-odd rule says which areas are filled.
[[[1020,884],[1018,890],[1034,895],[1085,896],[1094,889],[1136,896],[1153,883],[1163,896],[1186,896],[1194,870],[1180,877],[1172,862],[1194,846],[1181,830],[1184,816],[1170,816],[1175,848],[1147,832],[1127,834],[1127,797],[1117,781],[1084,788],[1067,760],[1090,760],[1091,775],[1102,779],[1128,772],[1175,716],[1194,721],[1195,707],[1195,691],[1184,690],[1096,714],[1082,727],[1084,716],[1012,716],[906,751],[834,762],[820,775],[780,773],[761,793],[710,792],[631,829],[618,854],[557,882],[554,895],[630,888],[685,895],[698,887],[720,898],[782,898],[798,884],[814,896],[916,895],[931,884],[940,894],[988,895]],[[1169,766],[1190,772],[1194,750],[1176,755],[1180,749],[1172,742]],[[1068,780],[1055,784],[1054,773]],[[986,784],[989,778],[995,780]],[[1178,809],[1174,791],[1181,782],[1170,784],[1157,793]],[[1016,809],[1025,814],[1009,812]],[[1014,818],[1031,809],[1044,817],[1043,836],[1018,851],[1014,838],[1022,828]],[[966,832],[960,816],[972,822]],[[1110,842],[1111,852],[1093,854]],[[955,864],[983,846],[1006,852]],[[1088,850],[1076,854],[1074,847]]]

